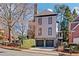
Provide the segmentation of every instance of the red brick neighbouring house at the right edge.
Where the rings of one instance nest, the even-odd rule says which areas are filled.
[[[79,44],[79,16],[69,25],[69,43]]]

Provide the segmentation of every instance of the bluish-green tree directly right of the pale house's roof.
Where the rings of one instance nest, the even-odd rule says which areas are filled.
[[[66,5],[64,5],[64,4],[56,4],[54,6],[54,12],[58,14],[57,23],[58,23],[59,31],[61,30],[61,22],[64,20],[63,15],[65,12],[65,9],[66,9]]]

